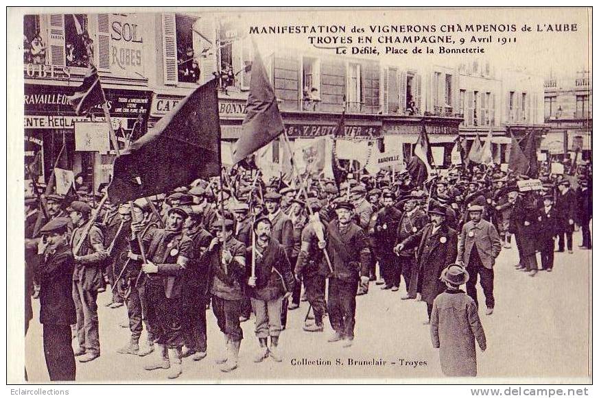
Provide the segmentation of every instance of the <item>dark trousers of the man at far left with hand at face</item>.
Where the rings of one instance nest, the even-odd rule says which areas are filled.
[[[71,347],[71,326],[44,323],[44,356],[52,382],[75,380],[75,354]]]

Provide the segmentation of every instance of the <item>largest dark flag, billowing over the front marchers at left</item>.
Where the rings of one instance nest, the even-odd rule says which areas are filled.
[[[220,175],[217,85],[213,79],[196,89],[121,153],[108,186],[112,203]]]

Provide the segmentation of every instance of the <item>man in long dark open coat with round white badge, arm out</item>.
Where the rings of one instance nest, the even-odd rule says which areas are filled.
[[[431,222],[395,247],[396,253],[417,247],[416,266],[412,271],[416,275],[412,277],[412,282],[416,293],[421,293],[422,301],[426,302],[428,320],[425,324],[430,323],[434,299],[445,290],[445,284],[439,280],[441,271],[455,262],[458,251],[458,234],[445,223],[445,207],[430,206],[428,214]]]

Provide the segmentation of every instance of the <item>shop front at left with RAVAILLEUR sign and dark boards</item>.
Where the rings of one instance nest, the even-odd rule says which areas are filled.
[[[68,97],[73,94],[76,85],[25,84],[25,164],[30,164],[36,153],[41,151],[43,179],[49,179],[56,164],[72,170],[75,175],[81,174],[84,185],[97,190],[99,184],[109,181],[116,152],[110,150],[109,144],[108,147],[79,145],[79,142],[88,139],[82,134],[93,129],[104,142],[108,142],[109,136],[102,109],[93,110],[91,116],[75,115]],[[152,93],[106,86],[104,93],[119,147],[124,148],[134,127],[138,132],[145,131]]]

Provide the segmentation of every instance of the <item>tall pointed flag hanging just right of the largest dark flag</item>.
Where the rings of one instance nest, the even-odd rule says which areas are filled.
[[[279,112],[277,97],[268,81],[260,53],[254,46],[251,66],[250,92],[246,105],[246,117],[242,134],[233,149],[233,162],[244,160],[261,147],[279,136],[285,127]]]

